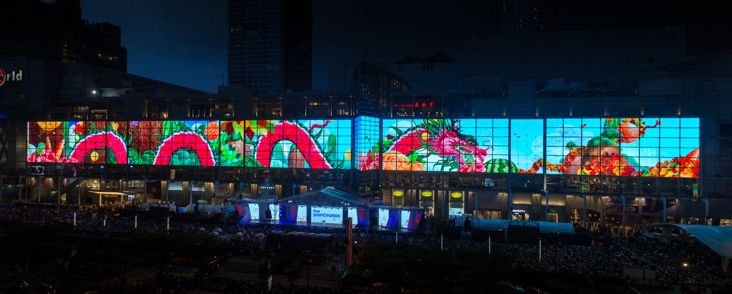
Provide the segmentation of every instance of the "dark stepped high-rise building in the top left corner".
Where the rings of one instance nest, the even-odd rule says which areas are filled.
[[[81,19],[79,0],[8,0],[0,18],[0,58],[83,62],[127,72],[119,26]]]

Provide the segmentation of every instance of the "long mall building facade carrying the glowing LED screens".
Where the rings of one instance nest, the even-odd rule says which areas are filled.
[[[10,161],[23,168],[7,170],[2,197],[80,203],[119,191],[185,205],[332,187],[442,217],[725,224],[732,75],[719,65],[730,56],[654,68],[665,78],[627,81],[634,90],[529,81],[490,93],[380,83],[340,93],[124,92],[119,101],[139,106],[116,118],[8,121]],[[354,77],[402,83],[359,67],[370,74]],[[364,97],[377,111],[361,112],[358,95],[373,95]]]

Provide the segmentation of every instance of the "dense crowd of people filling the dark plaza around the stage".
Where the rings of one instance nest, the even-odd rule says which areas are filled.
[[[127,235],[135,230],[157,231],[166,230],[166,222],[159,220],[138,219],[137,225],[130,217],[108,215],[110,207],[105,206],[65,206],[65,205],[31,205],[17,204],[15,206],[0,209],[0,218],[20,219],[39,225],[58,222],[73,222],[75,216],[75,230],[81,234],[108,233],[110,235]],[[106,221],[105,221],[106,219]],[[439,219],[426,219],[435,230],[445,230],[445,227],[452,227],[454,223],[449,221],[441,222]],[[273,230],[284,232],[299,231],[307,232],[307,227],[296,227],[286,225],[255,225],[242,227],[234,225],[201,225],[190,223],[170,222],[170,230],[197,230],[205,231],[216,235],[221,244],[250,249],[252,255],[274,254],[272,246],[261,246],[266,242],[266,235]],[[610,228],[602,229],[595,227],[595,230],[603,235],[612,233]],[[425,236],[391,235],[357,233],[360,241],[387,241],[393,242],[396,238],[400,241],[408,241],[427,248],[488,248],[486,241],[452,240],[448,238],[436,238],[436,235],[426,234]],[[539,245],[535,243],[511,243],[493,242],[493,252],[500,252],[513,257],[514,266],[534,271],[556,271],[586,276],[609,275],[627,276],[624,268],[650,269],[656,272],[657,282],[660,284],[695,284],[709,285],[716,287],[732,287],[732,275],[722,271],[720,267],[721,257],[712,252],[706,246],[696,244],[690,246],[684,243],[662,243],[658,240],[641,237],[639,231],[635,231],[630,238],[607,238],[605,241],[594,242],[591,246],[576,244],[545,244],[542,247],[542,255],[539,259]],[[333,243],[327,249],[330,252],[338,253],[345,247],[346,237],[343,233],[333,234]],[[280,247],[281,249],[281,247]],[[342,252],[342,251],[341,251]],[[227,291],[226,293],[242,293],[241,290],[233,287],[223,278],[209,279],[204,284],[211,284],[211,287],[228,287],[237,289],[237,292]],[[198,281],[201,282],[201,281]],[[176,284],[184,285],[185,282],[178,281]],[[257,282],[252,282],[259,287]],[[241,284],[241,283],[234,283]],[[216,286],[214,286],[216,285]],[[182,287],[182,286],[181,286]],[[244,287],[244,286],[241,286]],[[280,293],[302,293],[300,290],[292,290],[294,286],[277,286],[283,292]],[[171,288],[172,289],[172,288]],[[298,288],[299,289],[299,288]],[[199,289],[200,290],[200,289]],[[251,289],[249,289],[251,290]],[[244,290],[245,292],[246,290]],[[222,291],[219,291],[222,292]],[[251,291],[250,291],[251,292]],[[170,293],[170,292],[168,292]]]

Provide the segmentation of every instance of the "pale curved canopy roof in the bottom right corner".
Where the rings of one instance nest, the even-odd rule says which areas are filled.
[[[708,246],[712,251],[722,256],[722,269],[727,271],[730,260],[732,259],[732,227],[719,227],[710,225],[679,225],[679,224],[655,224],[644,225],[643,231],[654,227],[663,229],[663,235],[670,235],[671,228],[679,228],[687,231],[694,238]]]

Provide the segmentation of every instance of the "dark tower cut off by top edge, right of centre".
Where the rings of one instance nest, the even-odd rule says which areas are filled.
[[[556,31],[556,0],[503,0],[501,34]]]

